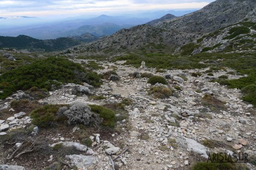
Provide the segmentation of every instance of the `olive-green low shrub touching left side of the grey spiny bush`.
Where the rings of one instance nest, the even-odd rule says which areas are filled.
[[[58,116],[57,112],[62,105],[44,105],[30,113],[32,123],[38,127],[52,127],[57,123],[67,122],[64,116]]]

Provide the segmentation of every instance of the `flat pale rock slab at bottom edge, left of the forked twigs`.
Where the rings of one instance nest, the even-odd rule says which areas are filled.
[[[85,168],[93,164],[93,161],[96,160],[94,156],[84,156],[84,155],[66,155],[66,159],[70,161],[79,169]]]

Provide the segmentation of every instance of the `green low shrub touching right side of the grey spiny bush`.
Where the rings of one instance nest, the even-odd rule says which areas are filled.
[[[103,126],[108,126],[108,127],[116,126],[116,115],[114,111],[99,105],[90,105],[90,108],[94,113],[99,114],[99,116],[103,118],[103,122],[102,122]]]

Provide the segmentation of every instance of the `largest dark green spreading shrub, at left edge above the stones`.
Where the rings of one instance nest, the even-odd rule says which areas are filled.
[[[5,99],[17,90],[32,87],[51,89],[52,80],[63,83],[82,83],[99,87],[102,82],[98,74],[86,71],[80,64],[64,58],[49,57],[40,59],[30,65],[22,65],[0,75],[1,99]]]

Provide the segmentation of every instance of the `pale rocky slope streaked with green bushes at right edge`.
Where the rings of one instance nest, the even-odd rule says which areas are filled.
[[[255,15],[253,18],[255,18]],[[192,49],[188,54],[201,52],[253,52],[256,50],[255,44],[256,23],[241,21],[194,41],[190,44]],[[185,46],[181,47],[181,52],[187,50]]]

